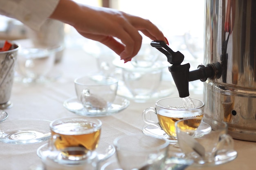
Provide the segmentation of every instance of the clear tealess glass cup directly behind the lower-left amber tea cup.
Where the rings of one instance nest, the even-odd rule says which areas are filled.
[[[117,95],[118,79],[105,75],[87,75],[74,80],[76,95],[88,112],[103,112]]]

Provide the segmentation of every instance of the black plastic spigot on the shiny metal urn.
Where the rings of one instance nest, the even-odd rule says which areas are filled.
[[[189,71],[190,64],[182,63],[184,55],[180,51],[174,52],[164,41],[153,41],[150,43],[160,52],[166,55],[167,60],[172,66],[168,69],[173,76],[173,80],[177,87],[180,97],[189,96],[189,82],[200,79],[205,82],[207,78],[215,79],[221,76],[221,65],[219,62],[207,64],[207,66],[199,65],[198,69]]]

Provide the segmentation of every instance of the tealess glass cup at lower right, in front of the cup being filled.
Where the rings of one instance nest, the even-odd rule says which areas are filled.
[[[201,122],[211,127],[208,132],[184,128],[187,122]],[[175,123],[178,144],[185,156],[195,165],[218,165],[236,158],[234,140],[227,134],[227,123],[206,117],[190,117]]]

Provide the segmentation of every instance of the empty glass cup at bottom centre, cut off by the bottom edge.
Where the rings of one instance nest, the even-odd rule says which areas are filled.
[[[124,135],[114,140],[117,160],[123,170],[162,170],[168,141],[144,134]]]

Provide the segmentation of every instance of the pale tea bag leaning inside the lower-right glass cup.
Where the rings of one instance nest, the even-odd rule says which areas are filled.
[[[192,148],[200,157],[205,156],[205,148],[202,146],[198,141],[196,141],[193,137],[191,137],[189,134],[182,132],[181,134],[182,140],[185,141],[185,143]]]

